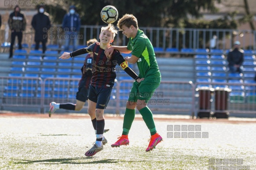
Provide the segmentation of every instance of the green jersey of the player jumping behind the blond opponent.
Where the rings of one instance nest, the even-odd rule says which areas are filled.
[[[158,64],[155,60],[153,46],[143,31],[138,29],[136,37],[129,39],[127,49],[132,51],[132,55],[138,57],[137,66],[139,68],[139,77],[151,79],[154,82],[161,77]]]

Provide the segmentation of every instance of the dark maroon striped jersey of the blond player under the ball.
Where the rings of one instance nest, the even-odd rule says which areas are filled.
[[[112,88],[116,77],[115,66],[125,61],[123,56],[119,51],[114,50],[112,57],[108,59],[99,42],[88,46],[87,51],[93,52],[91,85],[100,88]]]

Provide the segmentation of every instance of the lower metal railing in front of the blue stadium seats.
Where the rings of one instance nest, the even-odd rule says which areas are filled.
[[[79,78],[46,78],[42,80],[41,78],[0,77],[0,106],[2,109],[6,106],[36,107],[41,113],[44,113],[45,108],[48,108],[52,101],[76,103],[78,83]],[[118,115],[124,112],[132,83],[133,80],[115,82],[107,109]],[[202,86],[215,88],[215,91],[219,89],[218,87],[232,90],[227,92],[226,96],[217,99],[214,90],[211,93],[199,93]],[[206,90],[209,90],[207,88]],[[203,99],[201,103],[200,99]],[[205,103],[203,104],[204,108],[200,106],[202,103]],[[219,104],[216,103],[226,106],[220,110],[220,106],[217,106]],[[256,113],[256,83],[204,82],[193,84],[191,81],[161,81],[148,101],[148,106],[156,114],[187,114],[192,117],[199,111]]]

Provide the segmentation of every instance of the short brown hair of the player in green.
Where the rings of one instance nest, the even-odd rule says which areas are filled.
[[[138,28],[137,18],[133,16],[133,14],[125,14],[122,18],[120,18],[117,22],[117,27],[122,30],[122,26],[130,27],[133,25],[135,28]]]

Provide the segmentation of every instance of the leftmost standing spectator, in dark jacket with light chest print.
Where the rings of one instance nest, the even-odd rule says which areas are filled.
[[[10,46],[10,56],[13,55],[13,45],[15,42],[15,37],[18,36],[18,49],[22,49],[22,32],[26,28],[26,16],[21,12],[21,8],[17,5],[14,7],[14,12],[10,14],[8,20],[9,27],[11,29],[11,46]]]

